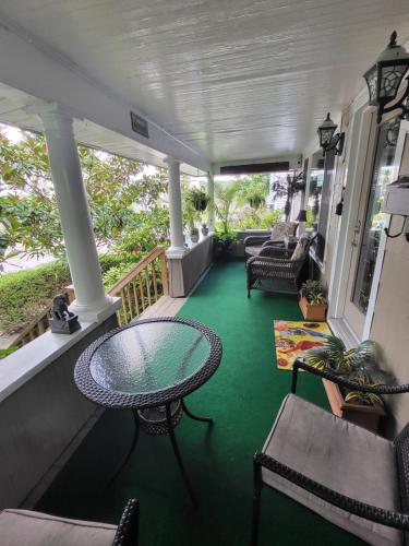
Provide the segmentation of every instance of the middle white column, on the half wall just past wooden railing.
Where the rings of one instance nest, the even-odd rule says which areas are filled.
[[[183,244],[183,218],[182,195],[180,191],[180,162],[173,157],[167,157],[169,168],[169,217],[170,217],[170,248],[167,251],[169,258],[179,258],[185,253]]]

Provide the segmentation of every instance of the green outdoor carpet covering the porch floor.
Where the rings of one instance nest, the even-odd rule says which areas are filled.
[[[132,460],[105,485],[132,439],[130,413],[107,411],[37,505],[59,515],[117,523],[125,500],[141,500],[141,546],[250,544],[252,455],[262,448],[291,376],[275,363],[273,319],[299,320],[297,299],[252,292],[242,262],[214,268],[180,316],[208,324],[224,357],[210,380],[188,399],[215,425],[182,418],[176,434],[193,487],[190,503],[168,437],[140,436]],[[299,394],[326,405],[318,379],[303,373]],[[342,472],[342,470],[340,470]],[[265,488],[260,545],[359,545],[358,538]]]

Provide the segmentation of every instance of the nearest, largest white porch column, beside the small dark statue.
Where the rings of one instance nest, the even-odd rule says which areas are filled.
[[[71,308],[84,320],[97,320],[113,299],[106,296],[103,286],[73,118],[58,105],[45,106],[38,115],[45,127],[67,258],[75,289]]]

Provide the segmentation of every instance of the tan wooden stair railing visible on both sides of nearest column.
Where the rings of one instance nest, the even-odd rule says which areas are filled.
[[[72,286],[68,286],[63,294],[70,302],[74,299]],[[122,307],[117,312],[120,325],[127,324],[157,301],[160,296],[168,294],[168,270],[164,247],[156,247],[152,250],[109,290],[110,296],[119,296],[122,299]],[[22,347],[44,334],[49,328],[50,311],[43,311],[22,332],[8,336],[7,343],[1,348],[12,345]]]

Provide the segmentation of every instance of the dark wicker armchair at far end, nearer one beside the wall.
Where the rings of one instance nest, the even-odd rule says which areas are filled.
[[[300,285],[300,276],[309,254],[309,249],[314,240],[301,238],[298,245],[303,245],[302,253],[298,249],[286,249],[277,246],[265,246],[258,256],[246,261],[248,297],[252,289],[266,292],[279,292],[282,294],[297,294]],[[293,253],[298,259],[293,259]]]

